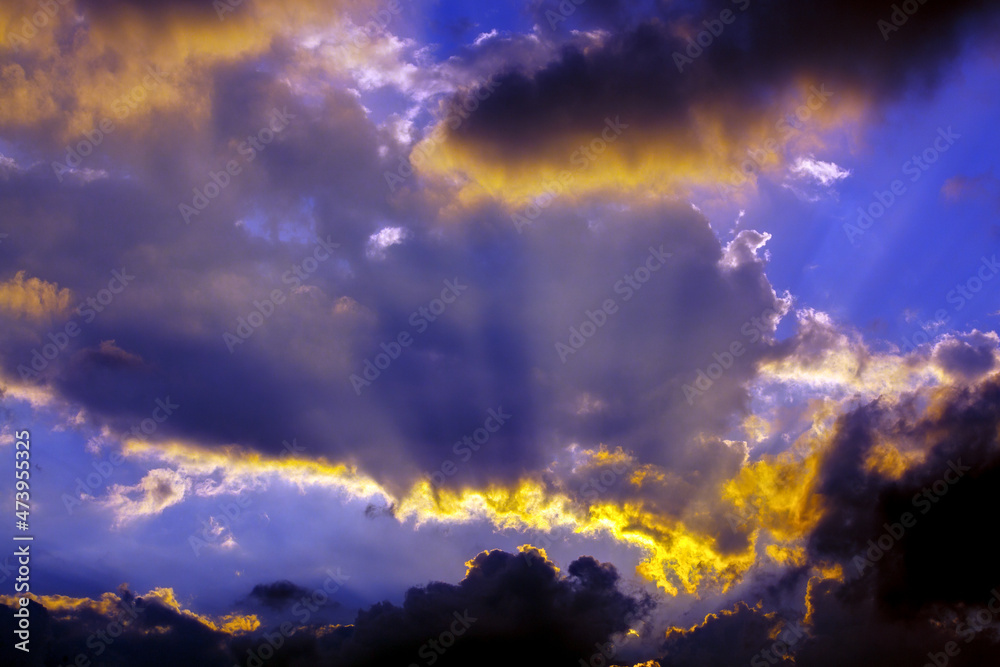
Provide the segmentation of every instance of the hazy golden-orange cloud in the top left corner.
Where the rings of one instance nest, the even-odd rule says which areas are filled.
[[[199,123],[212,112],[213,67],[260,56],[367,3],[248,0],[222,14],[212,3],[53,4],[57,11],[33,30],[24,21],[35,3],[0,10],[0,129],[46,129],[72,141],[105,119],[153,131],[143,124],[154,111]]]

